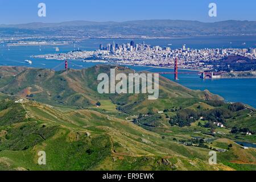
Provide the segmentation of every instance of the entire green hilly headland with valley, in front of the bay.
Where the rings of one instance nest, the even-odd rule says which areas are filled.
[[[156,101],[98,94],[97,76],[110,68],[133,73],[111,65],[57,72],[1,67],[0,169],[255,170],[256,150],[234,142],[256,142],[252,107],[163,77]],[[37,163],[42,150],[46,166]],[[217,152],[214,166],[211,150],[226,150]]]

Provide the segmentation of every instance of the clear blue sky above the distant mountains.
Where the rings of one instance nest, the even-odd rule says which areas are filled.
[[[38,17],[40,2],[46,3],[46,17]],[[210,2],[217,4],[217,17],[208,16]],[[0,24],[68,20],[256,20],[255,7],[255,0],[0,0]]]

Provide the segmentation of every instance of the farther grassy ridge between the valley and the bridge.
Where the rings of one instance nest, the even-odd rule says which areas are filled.
[[[48,69],[26,69],[11,80],[2,78],[4,85],[0,92],[51,105],[68,105],[80,109],[94,106],[98,100],[110,98],[119,110],[133,114],[146,114],[150,110],[161,111],[177,103],[186,107],[200,100],[221,99],[207,91],[190,90],[164,77],[160,77],[159,81],[159,100],[149,101],[147,94],[98,94],[97,86],[100,81],[97,81],[97,76],[100,73],[110,74],[110,68],[116,67],[98,65],[87,69],[59,72]],[[118,73],[128,74],[133,71],[117,67],[116,74]]]

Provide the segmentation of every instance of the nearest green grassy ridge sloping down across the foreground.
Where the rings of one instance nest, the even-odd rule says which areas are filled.
[[[23,105],[26,120],[13,115],[13,123],[0,126],[2,169],[232,169],[209,166],[207,149],[163,139],[113,115],[93,110],[61,113],[34,101]],[[47,154],[46,166],[37,164],[41,150]]]

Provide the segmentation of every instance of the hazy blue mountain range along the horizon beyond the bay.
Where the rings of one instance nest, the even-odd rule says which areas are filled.
[[[72,21],[62,23],[2,24],[1,36],[65,35],[65,36],[197,36],[256,35],[256,21],[227,20],[203,23],[192,20],[134,20],[129,22]]]

